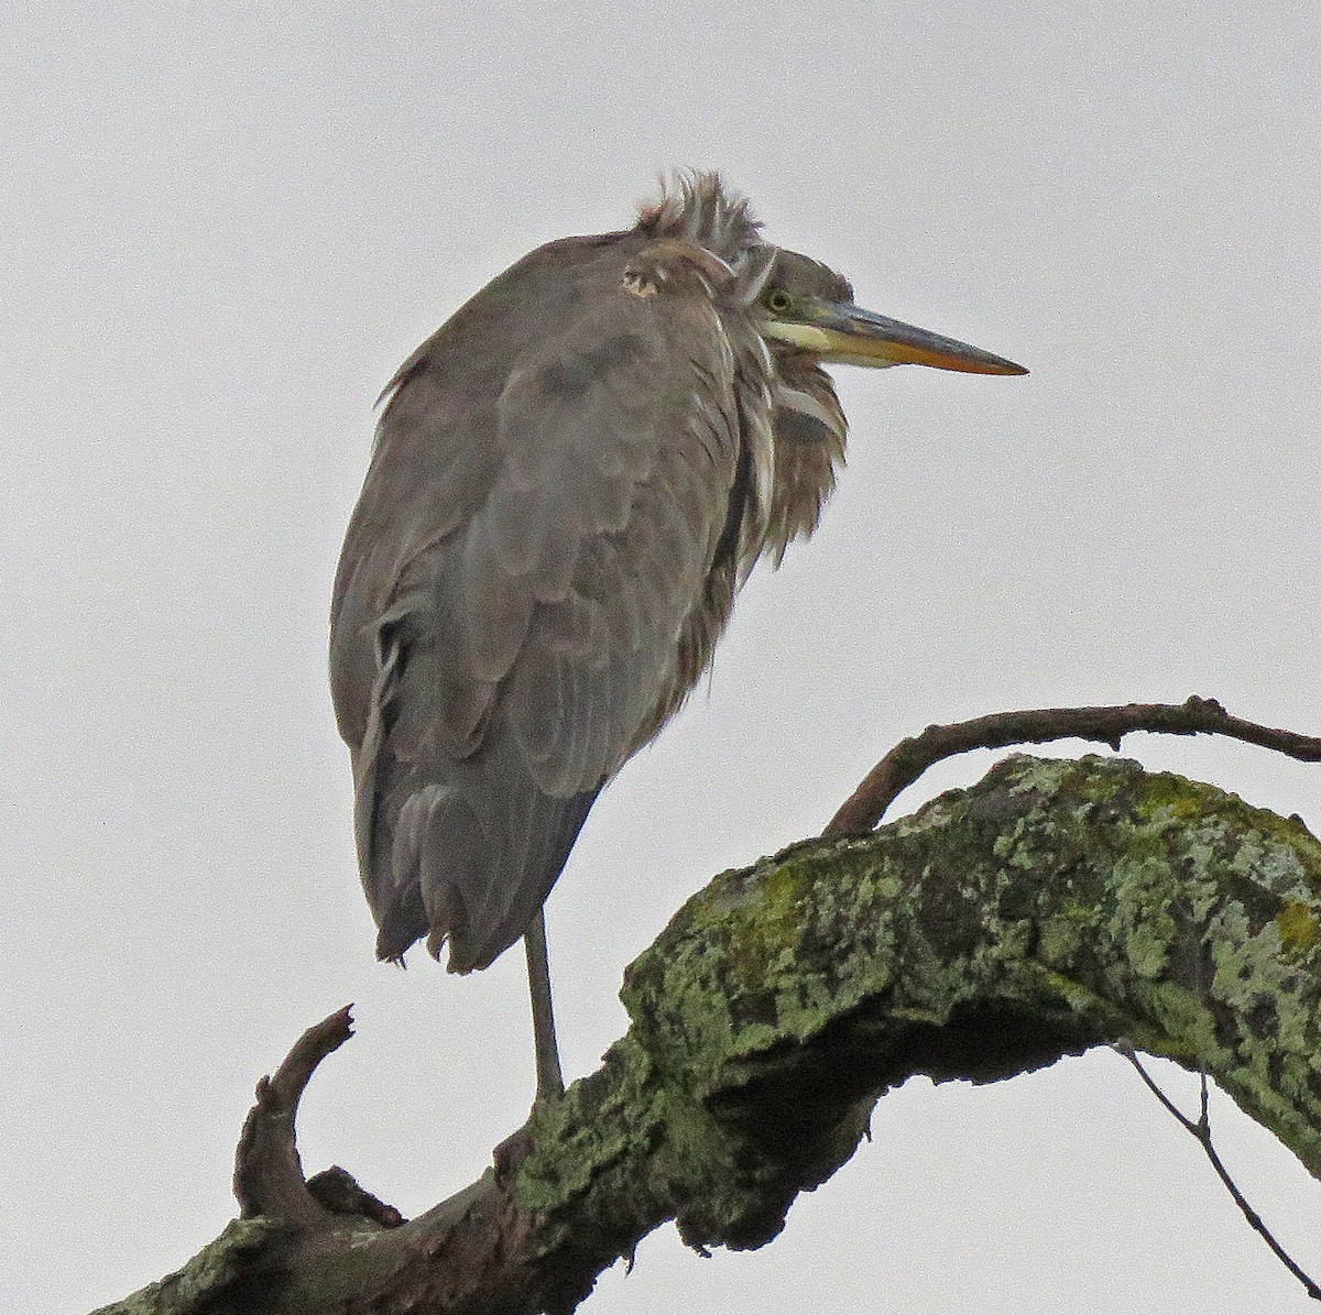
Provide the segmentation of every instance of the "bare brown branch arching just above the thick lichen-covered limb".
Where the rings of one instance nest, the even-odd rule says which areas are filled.
[[[934,763],[972,749],[1042,745],[1053,739],[1094,739],[1119,750],[1135,730],[1169,735],[1217,734],[1273,749],[1300,762],[1321,762],[1321,738],[1276,730],[1231,717],[1214,698],[1193,694],[1182,704],[1122,704],[1112,708],[1034,708],[992,713],[947,726],[927,726],[900,741],[865,776],[830,820],[824,836],[861,836],[873,830],[900,791]]]

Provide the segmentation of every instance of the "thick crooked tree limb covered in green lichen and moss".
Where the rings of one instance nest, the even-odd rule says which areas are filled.
[[[629,1032],[503,1179],[399,1228],[236,1221],[102,1315],[571,1310],[666,1220],[769,1241],[914,1073],[992,1081],[1120,1038],[1205,1068],[1321,1178],[1321,844],[1133,762],[1011,758],[872,836],[723,873],[624,999]]]

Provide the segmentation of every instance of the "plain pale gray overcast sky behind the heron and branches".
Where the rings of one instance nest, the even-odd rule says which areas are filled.
[[[346,1001],[309,1168],[412,1213],[520,1121],[522,956],[462,981],[371,957],[330,580],[395,366],[527,248],[627,224],[666,168],[724,169],[861,304],[1033,374],[838,371],[823,531],[753,580],[709,693],[605,793],[548,906],[571,1073],[690,891],[818,830],[930,721],[1197,692],[1321,730],[1313,7],[21,8],[0,1310],[86,1311],[214,1236],[252,1084]],[[1316,768],[1125,749],[1321,821]],[[1321,1274],[1321,1188],[1213,1116]],[[703,1261],[662,1231],[590,1308],[1310,1308],[1112,1056],[911,1083],[875,1137],[771,1246]]]

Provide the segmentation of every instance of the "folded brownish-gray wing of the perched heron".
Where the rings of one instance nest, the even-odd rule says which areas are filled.
[[[680,297],[621,287],[494,405],[444,380],[406,376],[382,421],[332,669],[378,951],[429,932],[468,970],[522,935],[602,783],[695,677],[680,639],[740,437],[719,321]]]

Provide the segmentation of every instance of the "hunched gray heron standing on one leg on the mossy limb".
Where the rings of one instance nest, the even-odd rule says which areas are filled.
[[[383,393],[330,640],[376,953],[425,936],[466,973],[523,936],[539,1098],[563,1091],[542,904],[753,565],[816,528],[845,434],[824,362],[1025,374],[859,309],[694,174],[524,256]]]

